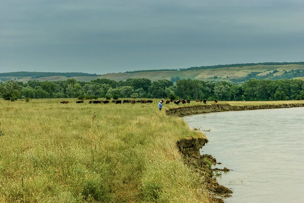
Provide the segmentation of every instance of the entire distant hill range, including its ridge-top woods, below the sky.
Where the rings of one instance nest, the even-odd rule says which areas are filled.
[[[294,64],[290,64],[294,63]],[[266,65],[265,65],[266,64]],[[81,72],[56,73],[56,72],[10,72],[0,73],[0,81],[14,79],[16,81],[27,82],[29,80],[66,80],[74,78],[80,81],[91,81],[97,78],[112,80],[126,80],[128,78],[148,78],[151,81],[168,79],[175,81],[177,79],[199,79],[204,81],[231,81],[243,82],[250,78],[257,79],[291,79],[304,77],[304,62],[268,62],[247,64],[229,64],[216,66],[201,66],[184,69],[164,69],[164,70],[144,70],[125,73],[108,74],[89,74]],[[197,69],[195,69],[197,68]]]

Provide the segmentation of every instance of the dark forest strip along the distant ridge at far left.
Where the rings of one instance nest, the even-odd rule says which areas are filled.
[[[7,73],[0,73],[0,77],[32,77],[32,78],[41,78],[41,77],[49,77],[49,76],[65,76],[67,78],[75,77],[75,76],[100,76],[96,73],[82,73],[82,72],[68,72],[68,73],[61,73],[61,72],[7,72]]]

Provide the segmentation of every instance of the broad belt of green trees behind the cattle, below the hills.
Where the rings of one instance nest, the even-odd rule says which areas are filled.
[[[5,100],[20,98],[183,98],[206,100],[303,100],[304,81],[299,79],[249,79],[241,85],[225,81],[206,82],[180,79],[174,85],[169,80],[151,82],[149,79],[127,79],[116,82],[95,79],[91,82],[67,79],[65,81],[31,80],[27,83],[13,80],[0,83],[0,95]]]

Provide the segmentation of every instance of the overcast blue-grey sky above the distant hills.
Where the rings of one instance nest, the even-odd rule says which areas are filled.
[[[0,72],[304,61],[303,0],[2,0]]]

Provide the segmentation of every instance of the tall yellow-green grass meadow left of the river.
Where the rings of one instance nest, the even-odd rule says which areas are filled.
[[[176,148],[203,137],[185,121],[157,103],[68,100],[2,101],[0,202],[209,202]]]

